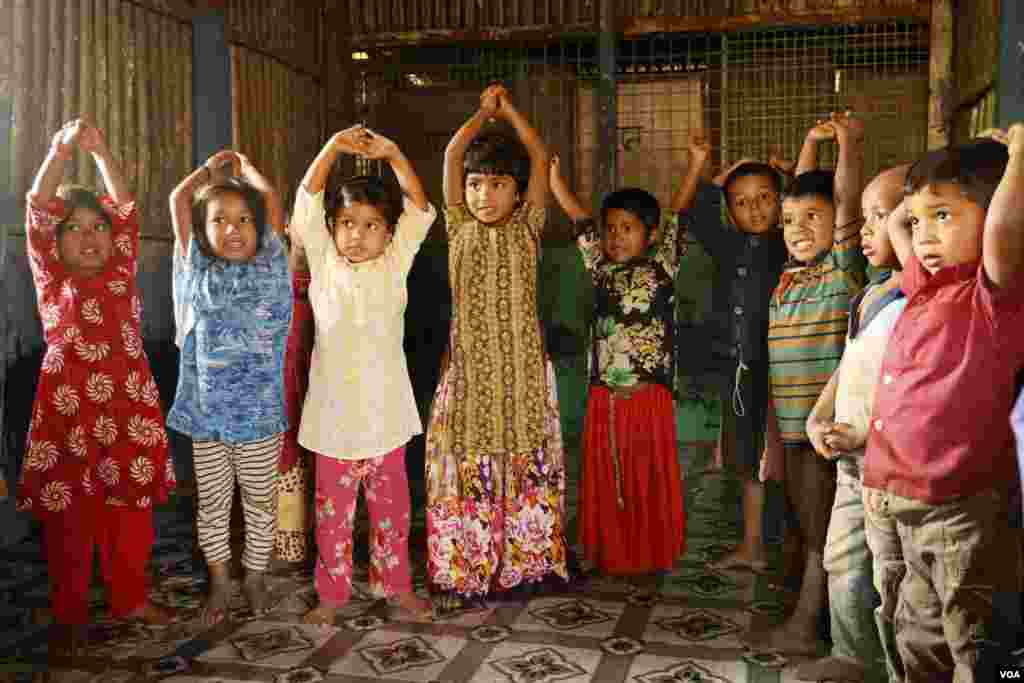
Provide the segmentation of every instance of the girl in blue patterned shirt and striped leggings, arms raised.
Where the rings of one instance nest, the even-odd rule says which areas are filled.
[[[238,164],[241,178],[227,176],[226,164]],[[244,156],[220,152],[185,177],[171,193],[171,215],[181,357],[167,425],[193,439],[199,543],[210,569],[202,617],[213,625],[225,617],[231,596],[236,482],[246,522],[243,593],[253,611],[267,606],[263,575],[273,550],[278,459],[288,428],[283,370],[292,285],[279,239],[281,199]]]

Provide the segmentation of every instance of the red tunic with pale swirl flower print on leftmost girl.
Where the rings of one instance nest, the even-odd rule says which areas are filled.
[[[142,350],[135,283],[139,248],[134,203],[102,198],[114,251],[94,276],[68,272],[56,250],[67,209],[30,202],[29,264],[46,336],[17,506],[45,520],[77,501],[151,508],[174,487],[160,393]]]

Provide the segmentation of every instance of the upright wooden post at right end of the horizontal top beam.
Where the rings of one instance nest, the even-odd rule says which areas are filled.
[[[956,97],[953,57],[955,51],[955,15],[953,0],[932,0],[931,45],[928,69],[928,148],[935,150],[951,141],[946,130],[945,113],[956,105],[947,102]]]

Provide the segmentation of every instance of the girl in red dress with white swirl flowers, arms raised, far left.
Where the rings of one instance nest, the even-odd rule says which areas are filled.
[[[95,159],[109,197],[58,190],[76,144]],[[63,627],[56,642],[73,645],[89,621],[94,546],[114,617],[170,621],[146,598],[146,562],[153,506],[167,500],[174,467],[139,333],[134,198],[99,130],[66,124],[27,199],[47,349],[17,504],[43,522],[50,602]]]

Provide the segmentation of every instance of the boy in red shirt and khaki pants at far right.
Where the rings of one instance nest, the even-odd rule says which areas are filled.
[[[1024,124],[993,137],[921,159],[890,224],[907,304],[863,500],[892,681],[998,680],[1019,623],[1008,417],[1024,367]]]

